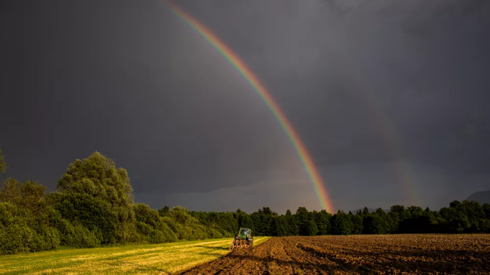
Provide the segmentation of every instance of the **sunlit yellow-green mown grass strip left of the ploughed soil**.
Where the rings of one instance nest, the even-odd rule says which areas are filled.
[[[270,237],[255,237],[254,246]],[[0,274],[174,274],[217,259],[231,238],[0,256]]]

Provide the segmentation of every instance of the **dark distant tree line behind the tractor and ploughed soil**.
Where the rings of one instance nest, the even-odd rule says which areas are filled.
[[[252,229],[257,236],[490,232],[490,205],[476,201],[453,201],[439,211],[396,205],[388,212],[382,208],[369,212],[364,207],[355,214],[342,210],[331,214],[300,206],[294,214],[288,209],[285,215],[269,207],[251,214],[238,209],[227,213],[192,211],[191,215],[213,229],[238,225]]]

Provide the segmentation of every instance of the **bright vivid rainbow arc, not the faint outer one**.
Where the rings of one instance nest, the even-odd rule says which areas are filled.
[[[177,15],[180,19],[182,19],[186,24],[188,24],[191,28],[196,30],[204,39],[206,39],[211,45],[213,45],[221,55],[228,60],[228,62],[235,67],[235,69],[242,74],[248,84],[259,94],[262,100],[269,107],[272,114],[275,116],[284,132],[293,143],[296,154],[299,159],[303,163],[303,166],[310,178],[310,181],[313,183],[313,188],[315,189],[315,193],[318,196],[320,205],[327,212],[332,213],[333,206],[332,202],[328,198],[327,190],[325,185],[318,173],[318,170],[315,166],[315,163],[310,157],[310,154],[306,150],[306,147],[301,142],[301,139],[294,131],[291,122],[287,119],[286,115],[279,108],[277,103],[274,101],[270,93],[267,89],[262,85],[255,76],[252,71],[246,66],[245,62],[243,62],[240,57],[234,53],[226,44],[224,44],[213,32],[211,32],[208,28],[206,28],[202,23],[197,21],[191,15],[184,12],[182,9],[172,4],[169,1],[164,0],[164,3],[170,8],[170,10]]]

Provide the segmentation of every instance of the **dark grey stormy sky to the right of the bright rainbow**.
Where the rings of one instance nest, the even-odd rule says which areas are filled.
[[[270,89],[336,206],[441,207],[488,188],[488,2],[181,5]]]

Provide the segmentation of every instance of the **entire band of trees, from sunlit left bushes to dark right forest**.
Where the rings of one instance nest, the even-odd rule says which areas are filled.
[[[0,151],[0,173],[6,169]],[[240,227],[267,236],[489,232],[490,205],[454,201],[439,211],[392,206],[355,214],[305,207],[285,215],[269,207],[251,214],[181,206],[155,210],[134,203],[127,171],[98,152],[70,163],[55,192],[11,178],[0,188],[0,254],[231,237]]]

